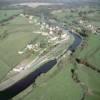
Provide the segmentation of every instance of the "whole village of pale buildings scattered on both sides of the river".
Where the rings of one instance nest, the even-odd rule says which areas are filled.
[[[29,15],[24,15],[24,14],[20,14],[20,16],[23,18],[27,18],[29,24],[35,23],[36,25],[38,25],[40,29],[39,31],[36,31],[35,33],[45,36],[48,39],[48,44],[50,44],[51,46],[59,45],[62,41],[68,41],[70,39],[69,34],[64,32],[63,29],[60,28],[59,26],[49,25],[48,23],[45,23],[43,21],[41,22],[38,19],[34,19],[34,16],[29,16]],[[96,33],[97,29],[95,26],[83,20],[79,20],[78,24],[81,25],[81,27],[84,27],[85,29],[91,31],[92,33]],[[81,28],[72,27],[71,31],[79,33],[81,32]],[[37,42],[35,44],[34,43],[27,44],[23,50],[18,51],[18,54],[21,56],[27,51],[29,52],[33,51],[34,53],[38,53],[38,55],[42,55],[44,54],[44,52],[46,52],[47,48],[42,49],[40,44],[41,44],[40,42]],[[15,68],[13,68],[13,70],[9,72],[8,76],[11,73],[19,73],[22,70],[26,70],[27,68],[29,68],[29,67],[27,68],[25,67],[26,64],[27,63],[25,63],[25,61],[22,61],[18,66],[16,66]]]

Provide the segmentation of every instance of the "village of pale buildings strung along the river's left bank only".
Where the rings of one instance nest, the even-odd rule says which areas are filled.
[[[33,20],[33,16],[29,16],[29,15],[24,15],[24,14],[20,14],[21,17],[26,17],[28,18],[29,24],[33,24],[36,23],[37,25],[40,26],[40,31],[36,31],[36,34],[41,34],[43,36],[45,36],[45,38],[48,39],[48,44],[50,44],[52,47],[56,47],[57,45],[59,45],[61,42],[63,41],[69,41],[70,36],[69,33],[64,32],[62,28],[60,28],[59,26],[55,26],[55,25],[49,25],[45,22],[41,23],[39,22],[37,19]],[[44,54],[44,52],[46,52],[47,48],[41,48],[40,46],[41,43],[37,42],[36,44],[27,44],[26,47],[23,50],[19,50],[18,51],[18,55],[21,56],[24,53],[27,53],[27,51],[29,52],[34,52],[34,53],[38,53],[37,56],[40,56]],[[37,57],[36,57],[37,59]],[[34,59],[34,60],[36,60]],[[30,62],[31,64],[32,62]],[[18,64],[16,67],[14,67],[9,73],[8,73],[8,77],[15,75],[23,70],[27,70],[28,68],[30,68],[29,66],[29,62],[27,62],[27,60],[23,60],[20,64]]]

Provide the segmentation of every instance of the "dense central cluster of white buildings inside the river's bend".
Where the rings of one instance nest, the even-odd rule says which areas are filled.
[[[63,29],[56,25],[49,25],[43,22],[40,29],[42,30],[41,34],[48,37],[49,43],[56,43],[68,37],[68,34],[64,33]]]

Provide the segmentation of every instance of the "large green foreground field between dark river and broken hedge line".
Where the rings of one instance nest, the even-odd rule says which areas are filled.
[[[36,80],[35,88],[29,88],[29,94],[25,96],[25,92],[22,92],[14,100],[80,100],[81,88],[71,79],[72,65],[67,62],[67,56],[63,61],[63,66],[55,66],[48,73],[41,75]]]

